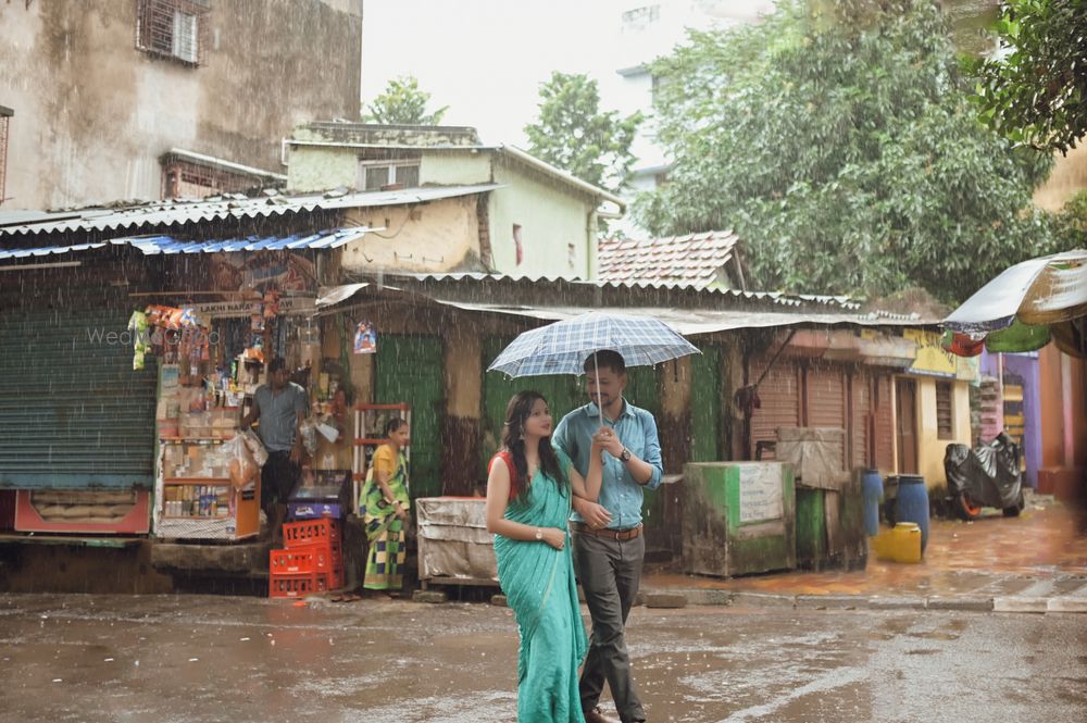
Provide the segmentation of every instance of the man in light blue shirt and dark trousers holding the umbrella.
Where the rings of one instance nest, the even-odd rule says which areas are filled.
[[[620,353],[607,350],[598,351],[596,360],[589,357],[585,361],[589,403],[566,414],[552,436],[583,475],[589,469],[594,435],[605,442],[599,503],[574,497],[571,515],[574,565],[592,618],[592,638],[578,684],[586,723],[613,723],[597,708],[604,681],[623,723],[646,720],[630,677],[625,627],[646,556],[644,488],[660,487],[664,468],[657,421],[623,398],[625,386],[626,362]]]

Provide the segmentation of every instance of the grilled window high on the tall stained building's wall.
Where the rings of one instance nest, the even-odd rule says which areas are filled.
[[[136,47],[201,65],[210,11],[211,0],[137,0]]]

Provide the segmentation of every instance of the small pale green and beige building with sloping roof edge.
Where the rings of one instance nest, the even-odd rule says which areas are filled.
[[[474,128],[309,123],[285,145],[292,192],[493,185],[477,200],[360,216],[387,232],[348,247],[349,273],[488,270],[592,278],[599,209],[623,209],[608,191],[524,151],[482,145]]]

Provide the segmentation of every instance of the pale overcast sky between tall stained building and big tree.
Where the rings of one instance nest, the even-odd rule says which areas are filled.
[[[446,125],[488,144],[525,146],[539,85],[551,71],[614,82],[612,43],[630,0],[364,0],[362,99],[414,75]]]

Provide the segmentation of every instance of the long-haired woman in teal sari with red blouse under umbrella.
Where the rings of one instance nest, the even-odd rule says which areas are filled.
[[[587,478],[551,447],[551,414],[536,391],[514,395],[503,447],[487,478],[487,529],[502,591],[517,619],[517,720],[584,723],[577,668],[587,640],[570,551],[571,495],[596,500],[603,447],[594,439]]]

